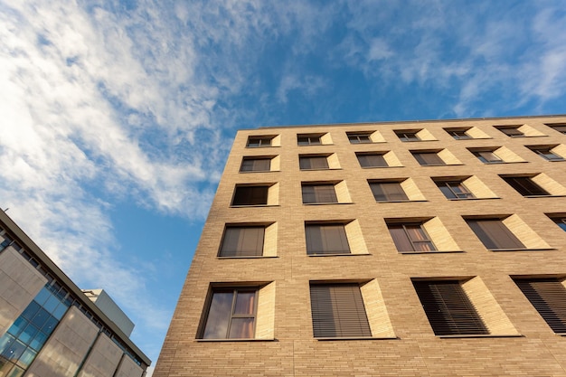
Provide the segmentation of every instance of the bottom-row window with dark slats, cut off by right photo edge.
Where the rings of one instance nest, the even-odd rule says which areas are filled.
[[[566,289],[558,278],[514,278],[554,333],[566,334]]]

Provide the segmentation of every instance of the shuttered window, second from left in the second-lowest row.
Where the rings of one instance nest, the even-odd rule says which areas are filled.
[[[307,254],[350,254],[344,224],[306,224]]]

